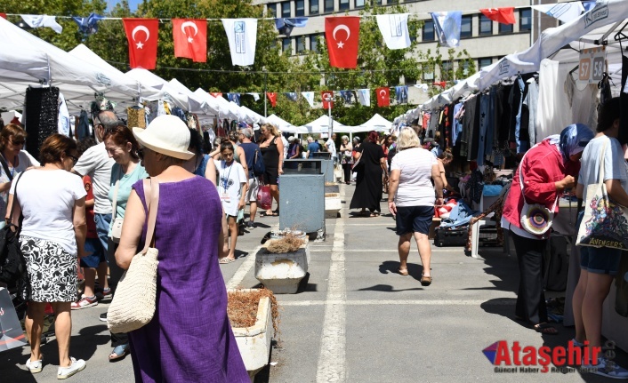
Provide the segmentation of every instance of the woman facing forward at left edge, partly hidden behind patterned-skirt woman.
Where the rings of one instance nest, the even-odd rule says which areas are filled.
[[[39,166],[35,158],[22,150],[25,140],[26,132],[18,124],[8,124],[0,132],[0,214],[3,217],[12,180],[29,167]],[[4,227],[4,222],[0,222],[0,227]]]

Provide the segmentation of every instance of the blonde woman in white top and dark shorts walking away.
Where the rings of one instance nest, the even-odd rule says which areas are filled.
[[[443,204],[443,181],[436,158],[420,145],[413,129],[404,128],[399,132],[397,155],[390,164],[388,209],[397,222],[399,274],[408,275],[407,256],[410,252],[410,238],[414,234],[423,264],[421,284],[429,286],[431,247],[428,233],[434,217],[434,195],[436,205]]]

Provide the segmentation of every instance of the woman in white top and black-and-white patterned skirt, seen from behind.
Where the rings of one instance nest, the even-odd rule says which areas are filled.
[[[85,255],[85,188],[83,180],[70,173],[76,164],[76,142],[61,134],[44,140],[39,156],[44,167],[24,172],[13,182],[9,205],[17,195],[13,216],[20,214],[20,247],[28,269],[26,331],[30,342],[32,373],[42,371],[39,349],[46,303],[56,315],[54,332],[59,346],[58,379],[66,379],[85,368],[84,360],[69,356],[72,329],[71,305],[76,300],[78,276],[76,257]]]

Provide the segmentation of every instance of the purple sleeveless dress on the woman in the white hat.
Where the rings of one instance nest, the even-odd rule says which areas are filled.
[[[142,181],[133,189],[146,211]],[[220,229],[221,201],[209,180],[159,184],[157,308],[149,324],[129,333],[135,381],[251,381],[227,316]],[[146,224],[142,247],[145,236]]]

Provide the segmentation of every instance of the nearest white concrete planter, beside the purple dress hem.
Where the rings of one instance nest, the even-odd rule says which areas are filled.
[[[253,326],[233,327],[232,330],[246,371],[248,371],[253,382],[255,374],[269,363],[270,342],[273,334],[270,299],[268,297],[260,299],[260,304],[257,307],[257,318]]]

